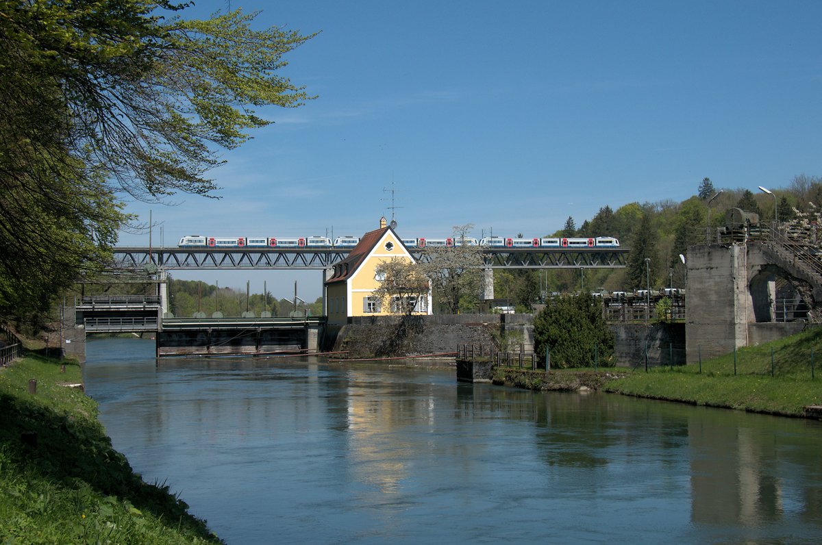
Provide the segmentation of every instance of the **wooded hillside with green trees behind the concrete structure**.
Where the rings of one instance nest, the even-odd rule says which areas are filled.
[[[685,266],[679,255],[686,253],[688,243],[704,240],[711,228],[725,224],[725,213],[741,208],[760,216],[769,223],[778,215],[780,224],[796,219],[797,212],[815,215],[822,202],[822,178],[800,174],[785,182],[785,187],[770,187],[771,194],[757,187],[715,187],[709,178],[694,184],[694,196],[686,201],[661,199],[655,202],[631,202],[613,210],[603,205],[591,219],[581,224],[575,218],[566,219],[562,229],[544,233],[546,236],[619,238],[630,248],[625,269],[576,269],[559,271],[496,270],[494,295],[507,299],[520,311],[527,311],[548,293],[568,293],[584,289],[596,291],[632,291],[642,289],[646,282],[645,258],[649,257],[651,288],[672,284],[683,287]],[[579,224],[579,227],[577,227]],[[464,300],[464,310],[475,302]]]

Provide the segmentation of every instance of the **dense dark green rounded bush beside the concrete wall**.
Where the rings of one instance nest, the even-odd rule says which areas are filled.
[[[533,318],[534,349],[552,367],[587,367],[596,350],[601,365],[612,365],[614,336],[603,317],[602,303],[589,293],[551,298]]]

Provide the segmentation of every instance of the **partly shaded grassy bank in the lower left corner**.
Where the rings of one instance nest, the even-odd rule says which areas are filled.
[[[39,356],[0,371],[0,541],[220,543],[168,487],[133,473],[79,383],[77,363],[62,372]]]

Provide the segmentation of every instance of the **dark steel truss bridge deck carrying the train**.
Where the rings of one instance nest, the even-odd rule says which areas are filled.
[[[425,250],[409,249],[427,261]],[[616,269],[626,266],[627,248],[487,248],[487,269]],[[143,248],[115,247],[114,262],[122,269],[238,270],[330,269],[348,256],[339,248]]]

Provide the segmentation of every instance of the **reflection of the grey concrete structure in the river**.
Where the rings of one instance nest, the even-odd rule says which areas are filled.
[[[756,525],[783,517],[782,488],[773,445],[747,427],[710,425],[694,418],[689,426],[691,520],[707,524]]]

